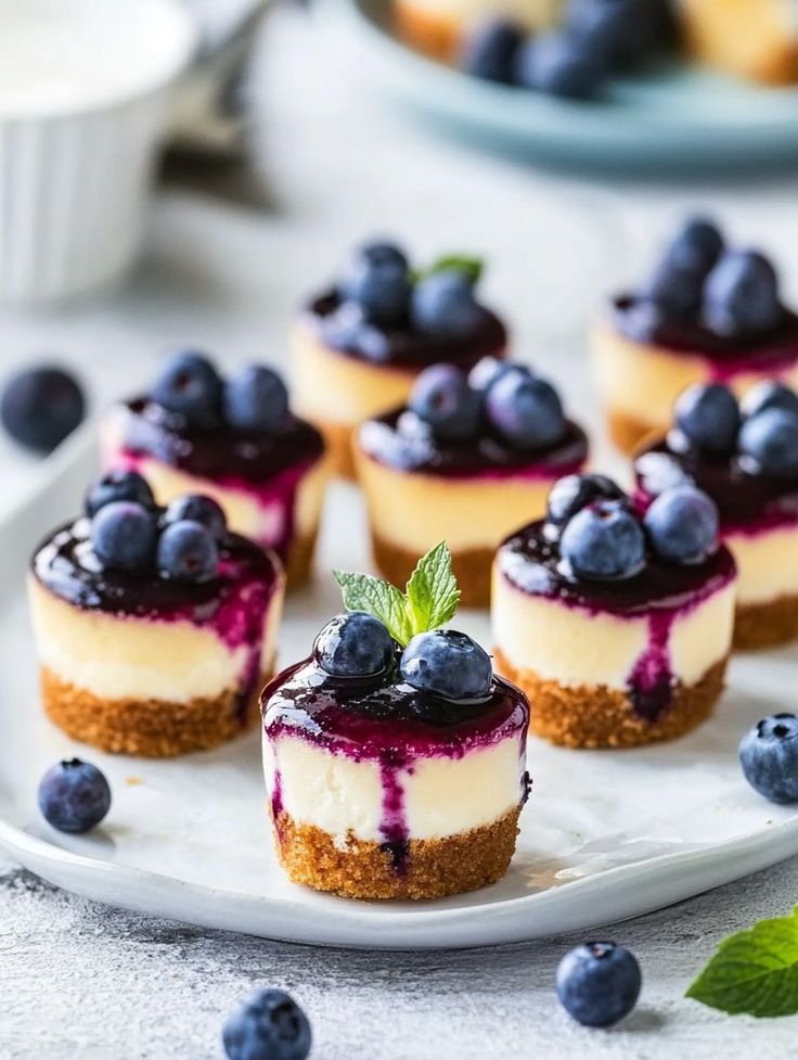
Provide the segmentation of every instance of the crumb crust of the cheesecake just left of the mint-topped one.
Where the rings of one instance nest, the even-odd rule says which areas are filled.
[[[42,666],[39,671],[44,711],[73,740],[101,751],[144,758],[171,758],[189,751],[206,751],[241,736],[260,719],[260,684],[242,711],[235,693],[189,703],[165,700],[106,700],[62,681]]]

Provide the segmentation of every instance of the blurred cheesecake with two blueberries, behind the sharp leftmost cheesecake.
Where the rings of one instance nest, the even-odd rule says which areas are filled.
[[[141,472],[159,503],[213,497],[232,529],[279,554],[289,585],[307,580],[332,468],[272,369],[223,380],[204,355],[177,354],[149,394],[108,411],[101,448],[107,470]]]

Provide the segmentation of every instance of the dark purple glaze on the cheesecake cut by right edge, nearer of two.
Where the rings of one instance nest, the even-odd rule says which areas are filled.
[[[635,457],[635,500],[643,509],[656,496],[654,473],[646,472],[646,463],[654,462],[652,454],[656,455],[657,473],[661,473],[660,469],[667,473],[672,465],[712,498],[723,534],[755,536],[798,523],[798,480],[761,474],[736,454],[699,451],[675,430]]]

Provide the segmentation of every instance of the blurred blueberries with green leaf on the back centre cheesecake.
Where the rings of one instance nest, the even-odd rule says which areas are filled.
[[[394,243],[365,243],[337,286],[340,304],[325,320],[329,336],[332,342],[357,336],[364,353],[379,359],[385,354],[381,330],[410,328],[443,341],[471,335],[486,316],[474,290],[479,272],[478,263],[452,256],[415,276]]]

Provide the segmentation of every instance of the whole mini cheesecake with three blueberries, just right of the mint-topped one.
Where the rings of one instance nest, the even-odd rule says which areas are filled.
[[[721,693],[735,584],[706,494],[665,489],[643,516],[612,480],[569,476],[499,549],[494,657],[553,743],[672,739]]]

